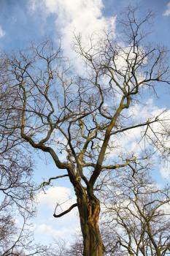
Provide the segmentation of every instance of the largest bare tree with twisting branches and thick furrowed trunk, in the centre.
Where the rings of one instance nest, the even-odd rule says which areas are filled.
[[[155,90],[156,84],[169,83],[166,49],[147,44],[142,32],[150,16],[149,12],[137,19],[129,7],[120,23],[121,38],[112,39],[109,33],[97,41],[92,37],[88,48],[76,37],[74,49],[86,64],[82,78],[74,75],[61,48],[55,50],[51,42],[9,57],[9,88],[18,99],[10,113],[20,113],[21,138],[50,154],[62,170],[61,176],[46,184],[58,178],[72,183],[77,202],[53,216],[78,208],[85,256],[104,254],[98,227],[100,200],[95,193],[98,178],[104,171],[114,172],[134,161],[128,151],[121,158],[118,154],[112,160],[107,157],[115,152],[115,138],[136,127],[145,127],[147,135],[154,123],[163,122],[161,116],[142,123],[128,118],[128,108],[144,87]]]

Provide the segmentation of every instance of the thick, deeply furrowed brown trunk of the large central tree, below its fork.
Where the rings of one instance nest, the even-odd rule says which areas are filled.
[[[80,214],[80,225],[82,230],[84,256],[103,256],[104,245],[98,227],[100,214],[99,200],[93,195],[88,198],[87,194],[77,192],[77,204]]]

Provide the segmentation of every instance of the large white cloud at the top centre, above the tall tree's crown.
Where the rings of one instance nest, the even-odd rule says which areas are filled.
[[[72,50],[74,34],[82,34],[82,41],[87,46],[92,34],[101,34],[104,30],[115,31],[116,18],[104,17],[102,0],[30,0],[29,4],[32,12],[41,10],[45,18],[50,14],[56,15],[55,38],[57,40],[59,34],[64,53],[71,59],[76,57]],[[81,66],[78,60],[76,64],[78,68]]]

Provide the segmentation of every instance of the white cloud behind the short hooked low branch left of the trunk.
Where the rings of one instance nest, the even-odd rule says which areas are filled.
[[[74,234],[80,229],[77,218],[77,208],[72,209],[61,218],[54,218],[53,213],[56,203],[58,206],[56,214],[65,211],[73,203],[76,203],[72,189],[67,187],[49,187],[44,192],[39,192],[37,200],[37,217],[34,220],[34,233],[37,242],[50,243],[53,238],[64,238],[72,240]],[[65,202],[65,203],[64,203]]]

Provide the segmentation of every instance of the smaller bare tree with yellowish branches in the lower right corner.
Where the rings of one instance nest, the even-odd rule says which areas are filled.
[[[114,230],[108,232],[109,253],[168,255],[169,186],[155,184],[150,176],[150,166],[144,161],[136,161],[120,172],[115,171],[114,175],[109,175],[105,186],[102,188],[104,227]]]

